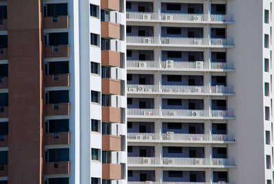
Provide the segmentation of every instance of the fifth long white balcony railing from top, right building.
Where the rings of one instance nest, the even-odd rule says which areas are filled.
[[[235,119],[233,110],[188,110],[127,108],[128,118],[145,119]]]

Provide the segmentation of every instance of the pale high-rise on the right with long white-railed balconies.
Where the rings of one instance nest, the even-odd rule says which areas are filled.
[[[126,10],[128,183],[273,183],[273,1]]]

